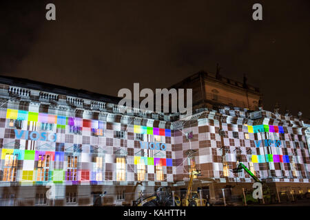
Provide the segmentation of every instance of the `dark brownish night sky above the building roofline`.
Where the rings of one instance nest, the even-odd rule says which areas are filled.
[[[56,21],[45,5],[56,5]],[[252,19],[254,3],[263,21]],[[202,69],[307,118],[310,1],[1,1],[0,74],[117,96]]]

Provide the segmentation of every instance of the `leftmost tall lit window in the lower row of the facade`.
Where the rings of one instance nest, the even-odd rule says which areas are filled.
[[[2,181],[16,181],[18,155],[7,153],[4,160]]]

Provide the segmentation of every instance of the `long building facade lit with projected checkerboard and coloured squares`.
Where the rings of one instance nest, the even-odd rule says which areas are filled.
[[[225,104],[196,107],[190,120],[121,113],[118,98],[10,77],[0,77],[0,98],[0,195],[16,206],[87,206],[104,191],[105,204],[131,205],[137,183],[181,190],[196,168],[194,187],[213,198],[251,188],[247,173],[231,173],[237,161],[274,186],[310,189],[305,128],[293,117]]]

